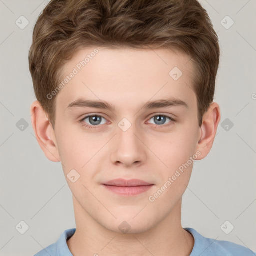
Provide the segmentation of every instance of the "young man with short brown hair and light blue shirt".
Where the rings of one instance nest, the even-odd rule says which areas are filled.
[[[220,121],[218,39],[196,0],[52,0],[29,64],[32,126],[76,221],[36,256],[255,255],[181,226]]]

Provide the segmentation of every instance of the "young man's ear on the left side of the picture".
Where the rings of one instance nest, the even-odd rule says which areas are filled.
[[[39,101],[32,102],[30,106],[31,123],[35,137],[45,156],[53,162],[59,162],[60,156],[57,148],[55,132]]]

